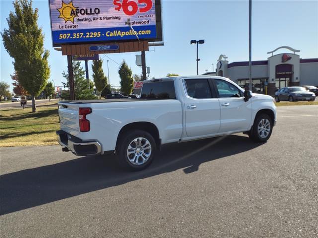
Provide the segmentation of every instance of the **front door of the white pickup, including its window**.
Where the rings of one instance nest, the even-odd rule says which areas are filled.
[[[252,118],[251,100],[245,102],[241,90],[225,80],[214,79],[213,85],[221,108],[219,132],[247,131]]]

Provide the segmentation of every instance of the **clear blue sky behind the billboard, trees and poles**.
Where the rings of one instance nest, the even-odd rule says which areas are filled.
[[[66,56],[53,50],[47,0],[34,0],[39,9],[39,25],[45,34],[44,47],[50,51],[50,80],[62,85],[63,70],[67,70]],[[12,0],[0,0],[0,30],[7,28],[6,18],[13,11]],[[150,77],[167,73],[196,74],[196,47],[191,39],[204,39],[199,46],[199,73],[212,71],[220,54],[230,62],[248,60],[248,1],[247,0],[162,0],[164,46],[146,52]],[[266,60],[268,51],[287,45],[299,49],[301,58],[318,57],[318,1],[316,0],[253,0],[252,7],[252,60]],[[3,47],[1,38],[1,81],[12,83],[12,58]],[[283,51],[283,50],[281,50]],[[135,64],[135,53],[108,54],[120,63],[125,59],[133,73],[141,74]],[[107,75],[108,59],[104,55]],[[118,64],[109,61],[110,83],[119,85]],[[82,64],[84,66],[84,63]],[[92,78],[91,65],[89,65]],[[12,89],[12,86],[11,86]]]

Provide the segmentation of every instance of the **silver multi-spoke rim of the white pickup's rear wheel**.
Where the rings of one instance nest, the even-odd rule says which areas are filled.
[[[151,156],[151,144],[144,137],[133,139],[127,148],[127,158],[133,165],[145,164]]]

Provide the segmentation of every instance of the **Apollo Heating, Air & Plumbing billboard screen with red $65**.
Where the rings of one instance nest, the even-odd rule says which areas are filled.
[[[54,47],[136,41],[134,31],[139,39],[162,39],[156,28],[161,28],[160,0],[49,0],[49,6]]]

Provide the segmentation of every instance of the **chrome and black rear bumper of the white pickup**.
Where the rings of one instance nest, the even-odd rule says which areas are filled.
[[[58,130],[56,134],[58,135],[59,144],[63,147],[63,151],[71,151],[75,155],[103,154],[101,144],[98,141],[82,141],[63,130]]]

